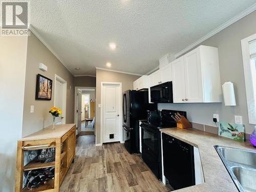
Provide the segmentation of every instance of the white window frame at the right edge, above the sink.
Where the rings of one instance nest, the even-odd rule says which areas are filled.
[[[241,40],[242,56],[243,56],[243,66],[244,66],[244,78],[245,78],[245,90],[246,90],[246,102],[248,119],[250,124],[256,124],[256,106],[252,83],[251,74],[251,59],[250,59],[250,49],[249,42],[256,39],[256,34],[246,37]],[[256,91],[256,90],[255,90]]]

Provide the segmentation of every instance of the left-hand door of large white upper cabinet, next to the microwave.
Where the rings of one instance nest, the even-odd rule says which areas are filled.
[[[186,88],[183,56],[172,62],[172,76],[174,102],[185,102]]]

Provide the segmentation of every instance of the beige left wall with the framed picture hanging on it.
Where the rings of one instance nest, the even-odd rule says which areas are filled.
[[[48,67],[48,71],[39,70],[39,63]],[[41,74],[53,80],[52,99],[35,100],[36,75]],[[31,32],[28,37],[24,119],[22,136],[27,136],[52,124],[49,109],[54,106],[55,74],[67,81],[66,123],[74,123],[74,76]],[[30,113],[30,105],[34,105],[34,113]]]

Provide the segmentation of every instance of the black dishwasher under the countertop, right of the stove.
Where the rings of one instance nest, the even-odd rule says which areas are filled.
[[[176,190],[195,185],[194,147],[162,133],[164,176]]]

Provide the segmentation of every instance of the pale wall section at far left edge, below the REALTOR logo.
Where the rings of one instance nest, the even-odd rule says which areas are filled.
[[[0,35],[0,191],[14,191],[17,140],[22,137],[28,37]]]

